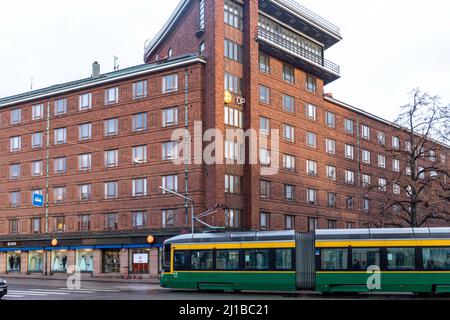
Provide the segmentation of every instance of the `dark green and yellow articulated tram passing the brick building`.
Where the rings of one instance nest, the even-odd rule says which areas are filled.
[[[181,235],[164,243],[161,286],[446,293],[450,228]]]

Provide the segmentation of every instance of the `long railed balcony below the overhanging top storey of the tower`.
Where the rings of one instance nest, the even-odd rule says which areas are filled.
[[[340,67],[337,64],[286,40],[274,32],[258,27],[256,40],[259,42],[262,52],[323,79],[325,84],[340,78]]]

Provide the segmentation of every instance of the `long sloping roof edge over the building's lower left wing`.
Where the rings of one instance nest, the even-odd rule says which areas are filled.
[[[47,88],[34,90],[30,92],[21,93],[18,95],[0,98],[0,108],[7,107],[13,104],[25,103],[28,101],[48,98],[55,95],[64,94],[67,92],[71,92],[74,90],[94,87],[102,84],[106,84],[109,82],[114,82],[117,80],[127,79],[143,74],[163,71],[175,67],[180,67],[183,65],[192,64],[195,62],[206,63],[204,59],[202,59],[198,55],[187,55],[182,57],[173,58],[166,61],[160,61],[158,63],[153,64],[142,64],[126,69],[122,69],[119,71],[109,72],[105,74],[101,74],[97,78],[89,77],[85,79],[75,80],[67,83],[53,85]]]

